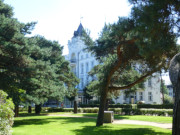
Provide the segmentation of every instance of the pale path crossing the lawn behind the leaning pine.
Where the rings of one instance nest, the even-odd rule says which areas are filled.
[[[76,115],[73,116],[73,115],[68,115],[68,114],[48,114],[48,116],[65,116],[65,117],[96,119],[95,117],[76,116]],[[118,120],[118,119],[115,119],[113,124],[148,125],[148,126],[160,127],[160,128],[165,128],[165,129],[172,129],[171,123],[156,123],[156,122],[139,121],[139,120]]]

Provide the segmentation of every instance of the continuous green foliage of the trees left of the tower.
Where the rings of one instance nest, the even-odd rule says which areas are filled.
[[[62,56],[63,47],[42,36],[27,37],[36,23],[13,18],[12,7],[0,0],[0,89],[20,102],[43,104],[76,93],[78,79]],[[17,112],[17,111],[16,111]]]

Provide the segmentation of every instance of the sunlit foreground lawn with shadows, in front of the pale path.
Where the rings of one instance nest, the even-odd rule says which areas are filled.
[[[171,130],[152,126],[104,124],[95,119],[54,116],[15,118],[13,135],[171,135]]]

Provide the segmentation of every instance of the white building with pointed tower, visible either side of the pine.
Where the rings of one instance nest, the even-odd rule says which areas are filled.
[[[66,59],[70,61],[72,71],[80,79],[80,83],[77,86],[78,102],[87,103],[87,100],[83,96],[83,88],[92,80],[88,76],[88,72],[98,64],[95,57],[86,51],[84,51],[85,44],[81,39],[83,26],[80,23],[77,31],[74,31],[74,35],[70,41],[68,41],[69,54]],[[132,98],[134,101],[132,101]],[[126,96],[124,92],[121,93],[119,98],[114,99],[115,103],[136,103],[137,101],[144,101],[147,104],[161,104],[162,97],[160,93],[160,78],[158,75],[151,77],[145,82],[145,90],[139,90],[136,93]]]

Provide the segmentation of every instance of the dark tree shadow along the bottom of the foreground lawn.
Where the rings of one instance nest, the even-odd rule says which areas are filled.
[[[123,128],[84,126],[83,129],[74,130],[76,135],[171,135],[171,133],[156,132],[151,128]]]

